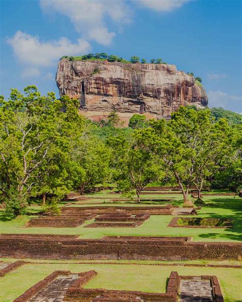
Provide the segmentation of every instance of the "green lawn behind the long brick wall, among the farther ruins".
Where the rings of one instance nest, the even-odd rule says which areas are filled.
[[[102,206],[138,206],[134,203],[108,203],[107,197],[112,197],[109,192],[100,192],[89,194],[91,197],[102,197],[102,199],[88,200],[88,206],[97,206],[100,202]],[[113,198],[120,197],[115,194]],[[182,205],[182,196],[180,194],[146,194],[143,198],[174,198],[172,204]],[[105,199],[106,198],[106,199]],[[1,233],[6,234],[63,234],[79,235],[81,238],[101,238],[106,235],[158,235],[158,236],[191,236],[194,241],[241,241],[242,240],[242,203],[240,197],[233,196],[204,196],[204,201],[209,206],[203,207],[198,211],[197,217],[230,218],[233,220],[232,229],[186,229],[186,228],[167,228],[168,223],[174,216],[171,215],[152,215],[138,228],[84,228],[87,223],[78,228],[25,228],[25,224],[33,215],[38,212],[40,207],[30,207],[26,215],[22,215],[15,220],[9,220],[9,217],[2,211],[0,216]],[[109,200],[110,201],[110,200]],[[162,206],[166,203],[143,204],[142,206]],[[64,204],[62,204],[63,206]],[[71,207],[85,207],[75,202]],[[68,205],[67,205],[68,206]],[[36,216],[35,216],[36,217]]]

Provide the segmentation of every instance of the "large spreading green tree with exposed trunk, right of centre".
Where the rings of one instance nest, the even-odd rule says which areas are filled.
[[[216,145],[224,138],[220,137],[221,130],[218,129],[228,131],[226,121],[222,123],[221,128],[213,125],[210,110],[180,107],[172,114],[170,122],[153,121],[152,128],[139,130],[136,134],[140,145],[159,156],[174,175],[183,194],[184,206],[193,206],[188,199],[189,188],[198,173],[212,165],[213,154],[220,150]]]

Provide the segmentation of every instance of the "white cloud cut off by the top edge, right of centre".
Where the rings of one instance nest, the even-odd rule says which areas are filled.
[[[191,0],[135,0],[144,7],[154,9],[156,11],[172,11],[180,8],[183,4]]]

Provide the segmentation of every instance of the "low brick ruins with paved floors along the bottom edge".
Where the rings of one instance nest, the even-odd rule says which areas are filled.
[[[216,276],[179,276],[172,271],[168,278],[165,293],[107,290],[103,288],[88,288],[87,284],[95,277],[96,271],[90,270],[82,273],[70,271],[54,271],[44,280],[38,282],[14,302],[42,302],[42,301],[165,301],[177,302],[223,302],[223,295]]]

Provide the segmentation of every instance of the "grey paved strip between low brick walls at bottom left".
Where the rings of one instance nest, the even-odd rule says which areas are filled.
[[[37,292],[29,302],[62,302],[67,289],[79,278],[78,274],[59,275],[53,282]]]

